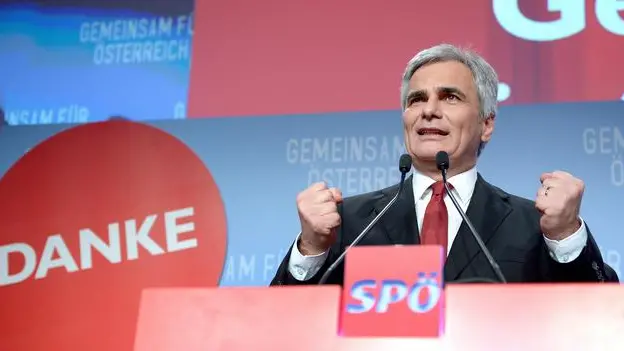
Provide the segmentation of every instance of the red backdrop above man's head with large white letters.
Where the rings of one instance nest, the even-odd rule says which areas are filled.
[[[504,103],[618,100],[624,37],[598,21],[596,2],[559,3],[564,11],[549,12],[547,0],[518,2],[535,21],[582,20],[586,3],[580,33],[535,42],[505,31],[493,0],[197,0],[188,114],[397,109],[405,64],[440,42],[481,52],[511,87]],[[599,3],[619,16],[613,1]]]

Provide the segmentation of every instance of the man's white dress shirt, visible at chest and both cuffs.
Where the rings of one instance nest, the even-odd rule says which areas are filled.
[[[453,195],[455,195],[455,198],[457,199],[457,202],[461,206],[462,210],[464,210],[464,212],[467,211],[470,199],[472,198],[472,194],[474,192],[475,184],[477,182],[477,169],[472,168],[467,172],[453,176],[448,179],[448,182],[453,185],[451,191],[453,192]],[[414,192],[414,200],[416,201],[416,218],[418,221],[419,232],[422,229],[425,209],[431,199],[431,185],[433,183],[435,183],[435,180],[414,171],[412,191]],[[457,209],[448,196],[444,197],[444,203],[446,204],[446,208],[449,212],[448,255],[463,218],[459,212],[457,212]],[[560,263],[574,261],[581,254],[583,247],[585,247],[585,244],[587,243],[587,228],[585,227],[585,222],[581,219],[581,227],[574,234],[563,240],[551,240],[545,236],[544,240],[549,249],[550,256],[554,260]],[[299,237],[297,237],[297,241],[299,241]],[[319,255],[304,256],[297,248],[297,241],[295,241],[295,245],[292,247],[290,260],[288,262],[288,270],[290,271],[290,274],[295,277],[295,279],[305,281],[312,278],[319,271],[325,263],[328,253],[324,252]]]

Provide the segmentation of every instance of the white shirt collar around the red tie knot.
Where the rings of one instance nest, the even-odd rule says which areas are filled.
[[[470,202],[475,184],[477,183],[477,168],[473,167],[466,172],[457,174],[447,180],[453,186],[453,193],[457,201],[464,204]],[[412,187],[414,191],[414,199],[422,200],[431,191],[430,186],[435,180],[414,170]]]

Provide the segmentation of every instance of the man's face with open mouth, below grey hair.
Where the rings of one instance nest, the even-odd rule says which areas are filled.
[[[405,144],[415,165],[446,151],[453,168],[476,163],[479,144],[494,131],[494,118],[479,116],[479,98],[470,69],[456,61],[418,69],[409,83],[403,112]]]

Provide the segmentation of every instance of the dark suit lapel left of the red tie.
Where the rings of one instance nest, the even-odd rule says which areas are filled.
[[[378,223],[385,229],[388,240],[393,245],[419,244],[418,222],[416,221],[416,204],[412,189],[412,176],[405,180],[403,190],[396,203],[386,212]],[[375,214],[396,195],[399,186],[382,190],[382,198],[375,204]]]

